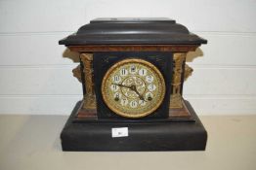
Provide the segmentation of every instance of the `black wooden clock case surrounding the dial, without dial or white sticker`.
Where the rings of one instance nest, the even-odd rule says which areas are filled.
[[[61,40],[59,44],[65,45],[70,51],[79,52],[80,59],[83,54],[93,56],[97,100],[97,111],[86,111],[85,115],[81,112],[85,98],[76,104],[61,134],[63,151],[205,150],[207,132],[190,103],[178,98],[183,103],[182,112],[189,113],[186,119],[180,117],[180,109],[170,109],[168,106],[175,99],[170,99],[173,89],[182,96],[186,53],[206,43],[206,40],[192,34],[184,25],[165,17],[97,18]],[[130,57],[148,60],[160,70],[166,81],[167,90],[162,105],[147,118],[124,119],[116,116],[107,108],[101,94],[101,84],[107,69]],[[85,90],[86,75],[83,69],[89,68],[90,64],[84,64],[82,60],[80,63],[81,73],[78,77],[83,83],[84,96],[88,91]],[[177,68],[177,64],[180,67]],[[179,87],[174,88],[176,84],[171,85],[171,82],[177,80]],[[112,137],[111,129],[115,127],[127,127],[128,135]]]

